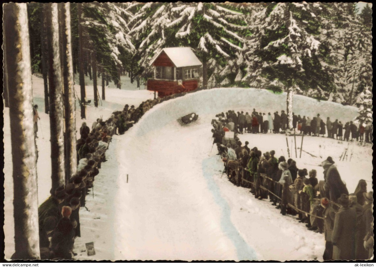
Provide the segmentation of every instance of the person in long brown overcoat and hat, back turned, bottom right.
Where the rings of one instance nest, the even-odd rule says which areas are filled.
[[[349,207],[349,196],[346,194],[342,194],[337,202],[342,208],[334,219],[333,260],[355,260],[356,211]]]

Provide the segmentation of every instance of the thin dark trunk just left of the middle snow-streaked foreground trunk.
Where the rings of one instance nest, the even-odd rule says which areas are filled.
[[[43,85],[44,85],[44,112],[46,114],[50,111],[49,105],[49,95],[48,95],[48,78],[47,78],[47,50],[46,50],[46,6],[47,4],[43,3],[43,10],[41,12],[41,54],[42,54],[42,76],[43,76]]]

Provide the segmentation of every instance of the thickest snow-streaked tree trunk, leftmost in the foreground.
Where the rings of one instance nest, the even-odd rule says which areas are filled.
[[[40,258],[38,189],[34,143],[29,29],[25,3],[6,3],[3,13],[13,163],[15,253],[12,259]]]

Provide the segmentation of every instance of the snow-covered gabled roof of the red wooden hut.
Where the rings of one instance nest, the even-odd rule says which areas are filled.
[[[202,65],[201,61],[196,57],[190,47],[169,47],[163,48],[161,52],[159,52],[159,54],[154,57],[153,61],[150,62],[150,66],[155,62],[159,55],[161,55],[162,52],[165,52],[167,54],[168,58],[170,58],[176,68]]]

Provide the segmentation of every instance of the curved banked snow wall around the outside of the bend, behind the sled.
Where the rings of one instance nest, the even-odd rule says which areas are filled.
[[[156,105],[148,111],[141,120],[135,124],[132,133],[142,136],[155,128],[163,127],[171,120],[191,112],[199,114],[199,118],[205,115],[213,115],[227,110],[252,112],[253,108],[258,112],[273,114],[281,110],[286,111],[286,93],[274,94],[268,90],[253,88],[217,88],[189,93],[185,96],[170,99]],[[353,120],[358,110],[355,107],[343,106],[328,101],[317,101],[301,95],[293,97],[293,112],[296,115],[314,117],[320,113],[320,117],[326,121],[330,117],[332,121],[338,118],[344,124]],[[210,121],[209,121],[210,122]]]

